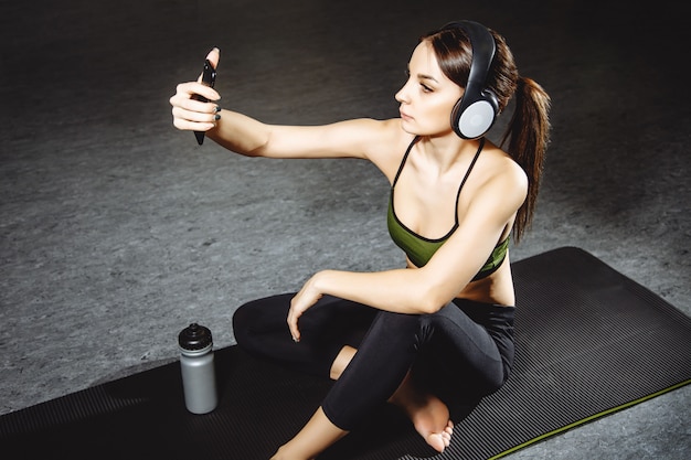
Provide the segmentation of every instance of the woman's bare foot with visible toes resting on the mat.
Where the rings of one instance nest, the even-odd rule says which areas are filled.
[[[450,420],[446,404],[430,394],[423,394],[413,387],[406,378],[390,403],[401,407],[408,416],[415,430],[433,449],[443,452],[454,434],[454,422]]]

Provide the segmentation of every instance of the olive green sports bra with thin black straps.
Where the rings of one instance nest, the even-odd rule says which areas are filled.
[[[416,234],[415,232],[411,231],[401,221],[398,221],[398,217],[396,216],[396,213],[393,206],[394,188],[396,186],[396,182],[398,182],[398,176],[401,175],[401,171],[403,171],[405,161],[407,160],[407,157],[411,153],[411,150],[416,141],[417,141],[417,138],[415,138],[413,142],[411,142],[407,150],[405,151],[405,154],[403,156],[403,160],[401,160],[401,165],[398,167],[398,171],[396,172],[396,176],[394,178],[393,184],[391,185],[391,197],[389,200],[389,215],[387,215],[386,221],[389,224],[389,234],[391,235],[391,238],[396,244],[396,246],[398,246],[401,249],[405,252],[408,259],[411,259],[411,261],[415,264],[416,267],[424,267],[429,261],[432,256],[434,256],[437,249],[442,247],[442,245],[446,243],[446,240],[451,236],[451,234],[456,231],[456,228],[458,228],[458,214],[456,213],[456,223],[454,224],[451,229],[442,238],[436,238],[436,239],[425,238],[424,236],[421,236]],[[470,175],[470,171],[472,170],[475,162],[480,156],[480,152],[482,151],[482,147],[485,147],[483,138],[480,140],[480,147],[478,148],[478,151],[475,154],[475,158],[470,162],[470,167],[468,167],[468,171],[466,171],[466,175],[464,176],[463,181],[460,182],[460,185],[458,186],[458,194],[456,195],[456,210],[458,210],[458,200],[460,197],[460,191],[464,184],[466,183],[468,175]],[[495,247],[495,249],[492,250],[492,254],[490,254],[489,256],[489,259],[482,266],[480,271],[478,271],[478,274],[472,278],[472,280],[475,281],[475,280],[488,277],[491,274],[493,274],[499,268],[503,259],[506,258],[508,248],[509,248],[509,237],[507,237],[503,242],[499,243]]]

